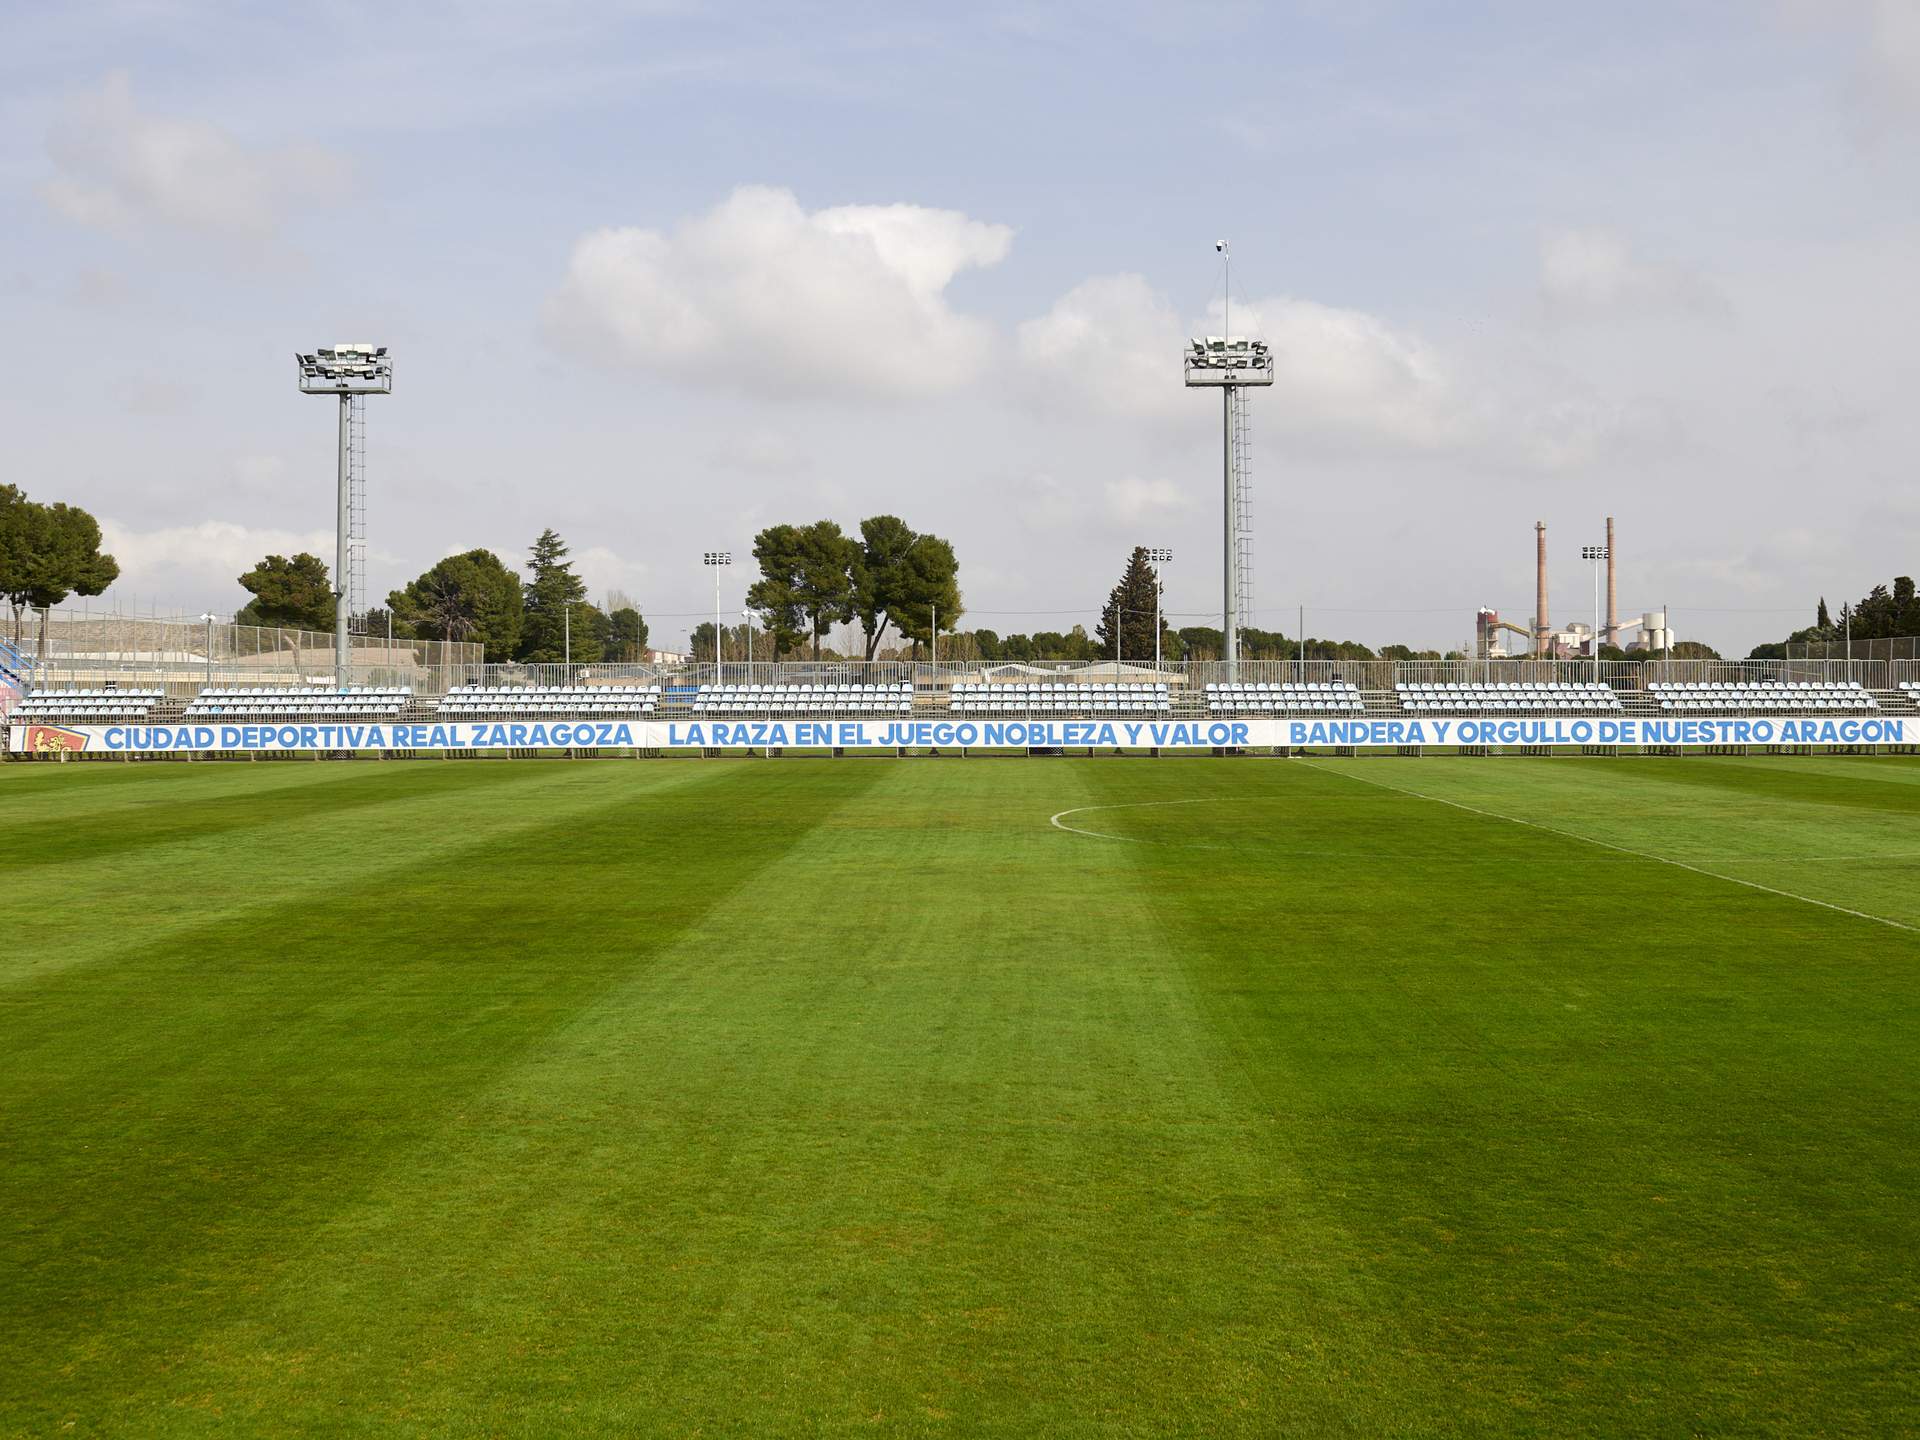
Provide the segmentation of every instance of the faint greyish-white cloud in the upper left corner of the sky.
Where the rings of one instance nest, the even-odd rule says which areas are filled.
[[[54,213],[106,230],[157,223],[202,234],[271,236],[284,213],[348,188],[348,161],[323,146],[248,146],[215,125],[152,115],[115,71],[75,96],[48,142]]]

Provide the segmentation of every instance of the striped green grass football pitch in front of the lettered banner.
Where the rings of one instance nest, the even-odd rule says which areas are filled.
[[[1920,1428],[1907,760],[13,764],[0,845],[6,1434]]]

